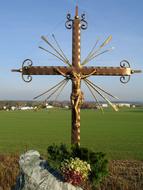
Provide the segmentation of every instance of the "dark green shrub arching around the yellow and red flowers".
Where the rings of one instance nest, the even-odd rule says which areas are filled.
[[[60,170],[61,162],[71,157],[78,157],[90,164],[89,181],[94,189],[108,174],[108,161],[102,152],[94,152],[78,145],[74,145],[70,149],[65,144],[60,146],[54,144],[48,147],[48,161],[55,169]]]

